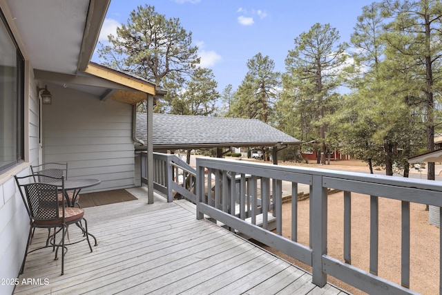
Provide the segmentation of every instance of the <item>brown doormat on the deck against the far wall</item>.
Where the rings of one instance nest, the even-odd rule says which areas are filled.
[[[113,204],[137,200],[126,189],[114,189],[113,191],[98,191],[96,193],[80,193],[79,203],[81,208]]]

